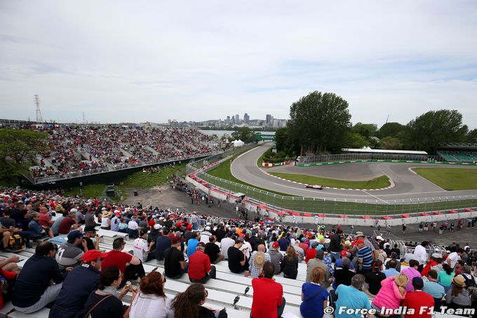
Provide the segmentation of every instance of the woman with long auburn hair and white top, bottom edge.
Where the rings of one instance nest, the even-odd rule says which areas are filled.
[[[164,293],[166,277],[160,272],[149,272],[141,278],[139,291],[133,292],[129,306],[131,318],[173,318],[170,298]],[[127,316],[126,316],[127,317]]]

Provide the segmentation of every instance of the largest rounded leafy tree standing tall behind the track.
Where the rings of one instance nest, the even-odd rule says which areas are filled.
[[[288,127],[293,139],[310,151],[342,148],[349,130],[351,115],[348,102],[325,92],[311,92],[290,106]]]

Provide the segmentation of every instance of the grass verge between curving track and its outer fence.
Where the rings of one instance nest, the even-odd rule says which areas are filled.
[[[235,156],[236,157],[236,156]],[[235,158],[234,157],[234,158]],[[232,160],[234,159],[232,158]],[[319,198],[304,198],[292,196],[287,193],[277,193],[269,191],[264,188],[257,188],[239,179],[236,179],[230,173],[230,160],[226,160],[208,174],[222,178],[222,181],[207,177],[207,174],[202,175],[202,179],[221,188],[233,192],[241,192],[250,198],[255,198],[269,205],[283,207],[284,209],[291,209],[294,211],[323,213],[323,214],[344,214],[344,215],[369,215],[369,216],[385,216],[389,214],[408,214],[416,212],[432,212],[445,209],[459,209],[464,207],[475,207],[477,200],[457,200],[457,201],[441,201],[441,202],[427,202],[420,200],[419,203],[409,204],[385,204],[379,202],[372,203],[358,203],[358,202],[340,202],[333,199],[323,200]],[[233,181],[236,185],[230,184],[228,181]],[[326,191],[326,190],[323,190]],[[268,194],[267,194],[268,193]],[[316,192],[319,195],[319,191]],[[372,201],[372,200],[368,200]],[[409,201],[406,201],[409,202]]]

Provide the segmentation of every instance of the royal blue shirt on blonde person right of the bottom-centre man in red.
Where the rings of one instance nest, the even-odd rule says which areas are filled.
[[[328,291],[318,284],[309,282],[302,285],[302,293],[303,302],[300,305],[300,313],[303,318],[323,317],[323,300],[328,299]]]

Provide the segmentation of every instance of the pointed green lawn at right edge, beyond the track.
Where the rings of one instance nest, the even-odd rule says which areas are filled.
[[[477,189],[477,169],[413,168],[412,170],[445,190]]]

